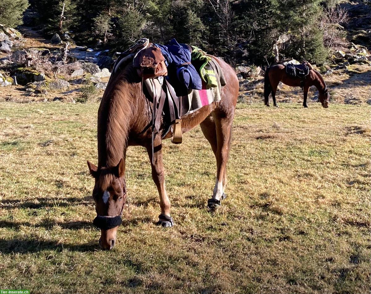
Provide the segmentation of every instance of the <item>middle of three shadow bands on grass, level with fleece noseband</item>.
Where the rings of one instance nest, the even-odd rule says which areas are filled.
[[[53,226],[60,226],[63,229],[79,230],[79,229],[96,229],[92,222],[55,222],[53,220],[44,220],[41,223],[32,224],[29,222],[9,222],[7,220],[0,220],[0,228],[12,228],[19,230],[21,226],[33,228],[51,229]]]

